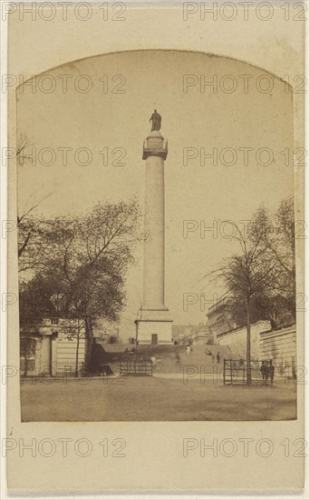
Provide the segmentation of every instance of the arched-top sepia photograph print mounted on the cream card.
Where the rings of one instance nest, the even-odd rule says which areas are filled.
[[[23,421],[295,419],[290,85],[142,50],[16,98]]]

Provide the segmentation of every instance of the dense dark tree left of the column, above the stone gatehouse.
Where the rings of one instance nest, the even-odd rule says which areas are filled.
[[[136,201],[98,204],[87,215],[45,220],[44,251],[32,267],[34,277],[20,288],[21,322],[40,322],[46,315],[75,320],[70,335],[78,351],[77,320],[83,320],[86,335],[98,317],[116,321],[126,301],[125,276],[134,262],[139,221]]]

